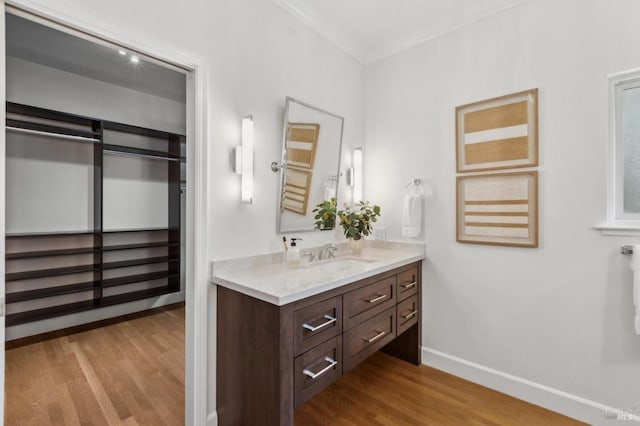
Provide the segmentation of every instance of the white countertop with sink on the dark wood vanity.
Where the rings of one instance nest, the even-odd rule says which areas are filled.
[[[303,251],[307,251],[305,249]],[[346,243],[336,258],[289,268],[284,253],[212,262],[214,284],[282,306],[425,258],[424,244],[367,241],[361,256]]]

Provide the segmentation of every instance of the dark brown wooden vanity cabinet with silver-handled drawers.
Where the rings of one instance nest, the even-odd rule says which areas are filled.
[[[224,425],[293,425],[295,407],[378,350],[420,364],[421,262],[288,305],[218,286]]]

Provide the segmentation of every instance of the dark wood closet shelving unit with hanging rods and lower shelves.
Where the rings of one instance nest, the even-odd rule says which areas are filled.
[[[10,244],[7,248],[10,250],[5,253],[5,262],[14,262],[21,259],[30,259],[29,262],[33,266],[32,270],[21,272],[11,272],[5,274],[5,280],[21,281],[46,279],[48,277],[56,277],[63,275],[72,275],[80,273],[90,273],[91,277],[88,281],[74,284],[52,285],[48,287],[38,288],[34,290],[14,291],[6,295],[7,304],[10,310],[17,310],[16,305],[12,303],[28,302],[37,299],[47,299],[56,296],[70,295],[80,292],[92,292],[91,300],[80,302],[62,303],[38,309],[28,310],[28,304],[22,312],[15,312],[7,315],[6,325],[18,325],[31,321],[45,320],[61,315],[72,314],[76,312],[98,309],[103,306],[111,306],[119,303],[126,303],[135,300],[141,300],[156,297],[162,294],[175,293],[180,291],[180,168],[181,161],[184,157],[181,155],[181,145],[185,143],[185,136],[174,133],[167,133],[160,130],[146,129],[142,127],[132,126],[122,123],[114,123],[105,120],[98,120],[90,117],[82,117],[73,114],[67,114],[58,111],[47,110],[43,108],[32,107],[7,102],[6,109],[8,118],[6,125],[13,127],[11,131],[20,132],[24,135],[32,134],[34,137],[39,135],[50,135],[52,137],[64,138],[70,141],[95,142],[93,146],[93,226],[92,230],[81,231],[53,231],[53,232],[27,232],[6,234],[6,242],[15,243],[12,247]],[[114,135],[108,131],[120,132],[117,141],[110,141],[109,138]],[[161,144],[155,147],[159,149],[144,149],[128,146],[128,141],[124,144],[120,136],[122,134],[145,136],[157,139]],[[126,136],[126,135],[124,135]],[[78,139],[80,138],[80,139]],[[89,139],[89,140],[87,140]],[[132,144],[135,138],[132,138]],[[106,142],[106,143],[105,143]],[[117,143],[109,143],[117,142]],[[106,154],[124,154],[139,155],[145,157],[153,157],[156,160],[165,160],[167,164],[167,195],[168,208],[167,226],[164,228],[141,228],[141,229],[104,229],[103,211],[104,211],[104,193],[103,193],[103,163]],[[61,183],[62,184],[62,183]],[[43,212],[46,214],[46,212]],[[162,235],[155,235],[156,241],[145,241],[150,238],[145,233],[164,232]],[[136,235],[139,233],[139,235]],[[122,234],[121,236],[118,234]],[[73,237],[83,237],[73,239]],[[67,238],[67,240],[64,240]],[[21,239],[31,239],[28,246],[18,244]],[[161,241],[157,241],[157,240]],[[75,245],[75,247],[74,247]],[[21,247],[22,246],[22,247]],[[62,248],[64,247],[64,248]],[[136,259],[126,259],[118,261],[104,262],[105,253],[114,253],[116,251],[125,255],[126,250],[140,250],[152,248],[166,248],[160,253],[163,256],[156,256],[158,253],[152,251],[138,252]],[[159,251],[159,250],[158,250]],[[153,253],[153,254],[152,254]],[[80,262],[81,265],[54,267],[50,262],[55,262],[56,256],[70,255],[89,255],[91,259]],[[147,255],[147,257],[139,258]],[[131,255],[129,255],[131,257]],[[54,258],[54,259],[51,259]],[[64,260],[73,260],[67,258]],[[130,273],[129,275],[105,278],[105,270],[114,270],[116,268],[128,268],[142,265],[162,266],[164,270],[147,273],[140,271]],[[15,263],[13,265],[16,265]],[[55,266],[55,263],[53,263]],[[126,271],[122,271],[126,272]],[[105,288],[113,288],[124,286],[127,284],[141,283],[154,280],[166,280],[166,284],[158,282],[161,285],[147,290],[134,290],[123,294],[105,296]],[[46,285],[46,284],[45,284]],[[126,288],[121,288],[125,290]],[[50,303],[53,303],[52,299]],[[22,307],[21,307],[22,309]]]

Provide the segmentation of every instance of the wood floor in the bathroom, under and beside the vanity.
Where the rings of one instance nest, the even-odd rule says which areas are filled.
[[[298,426],[584,425],[380,352],[301,405],[295,422]]]

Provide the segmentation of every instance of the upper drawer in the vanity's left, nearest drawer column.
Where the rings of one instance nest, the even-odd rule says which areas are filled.
[[[342,297],[298,309],[293,314],[295,355],[342,333]]]

